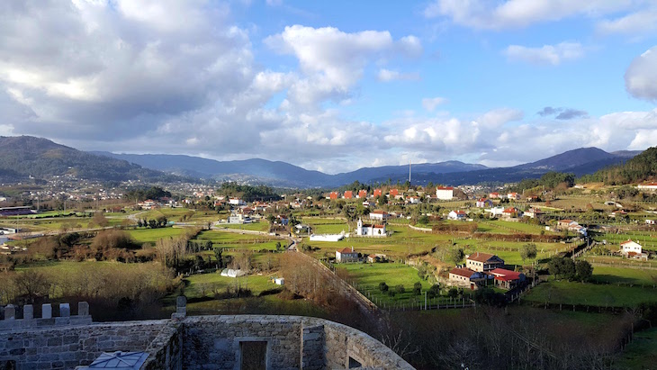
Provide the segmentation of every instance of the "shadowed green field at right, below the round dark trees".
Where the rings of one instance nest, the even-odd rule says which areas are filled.
[[[595,271],[595,269],[594,269]],[[600,307],[636,307],[642,302],[657,302],[657,289],[614,284],[582,284],[550,281],[538,284],[523,296],[525,301],[553,304],[582,304]]]

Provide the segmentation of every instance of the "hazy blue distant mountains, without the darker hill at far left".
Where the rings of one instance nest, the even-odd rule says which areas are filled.
[[[549,171],[573,172],[577,176],[592,174],[600,168],[608,167],[633,158],[640,151],[618,151],[608,153],[598,148],[581,148],[516,167],[489,168],[460,161],[422,163],[411,166],[411,180],[414,184],[428,182],[464,185],[482,182],[515,182],[527,177],[540,177]],[[220,181],[243,181],[291,187],[337,187],[361,183],[383,183],[408,180],[408,166],[364,167],[356,171],[328,175],[311,171],[280,161],[266,159],[245,159],[217,161],[190,156],[166,154],[115,154],[94,152],[94,154],[127,160],[131,163],[182,176],[212,178]]]

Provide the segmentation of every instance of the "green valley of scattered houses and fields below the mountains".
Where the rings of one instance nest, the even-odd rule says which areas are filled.
[[[62,205],[58,199],[41,199],[40,209],[8,199],[0,208],[0,271],[27,268],[57,280],[51,274],[62,268],[77,274],[159,261],[185,282],[161,292],[162,302],[183,293],[188,310],[199,314],[234,312],[235,304],[242,304],[238,311],[262,304],[318,310],[311,307],[320,298],[288,301],[290,293],[348,293],[366,310],[400,315],[512,305],[597,311],[612,320],[627,307],[657,302],[657,203],[588,185],[525,194],[505,191],[512,186],[478,193],[442,185],[355,187],[249,198],[231,187],[159,189],[153,194],[164,195],[90,199],[66,211],[52,209]],[[657,184],[633,188],[654,199]],[[80,247],[101,248],[94,235],[113,230],[132,247],[113,255]],[[46,240],[74,234],[71,247],[44,249]],[[309,291],[305,274],[341,288]],[[49,285],[39,299],[65,299],[65,285]],[[0,298],[9,302],[14,289],[4,287]]]

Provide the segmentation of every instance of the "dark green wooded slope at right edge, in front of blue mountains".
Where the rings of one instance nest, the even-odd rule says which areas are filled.
[[[646,149],[623,165],[607,167],[593,175],[582,176],[581,182],[604,182],[607,185],[635,184],[657,180],[657,147]]]

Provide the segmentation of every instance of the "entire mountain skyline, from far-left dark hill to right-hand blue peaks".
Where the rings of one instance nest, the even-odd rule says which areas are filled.
[[[582,148],[516,167],[490,168],[459,161],[423,163],[412,166],[413,184],[428,182],[445,185],[473,185],[484,182],[516,182],[540,177],[549,171],[593,174],[601,168],[623,163],[640,151],[608,153],[598,148]],[[361,183],[396,183],[408,180],[408,166],[364,167],[336,175],[307,170],[289,163],[253,158],[218,161],[167,154],[115,154],[85,152],[50,140],[30,136],[0,137],[0,181],[21,180],[29,176],[75,175],[102,181],[179,182],[191,179],[238,181],[282,187],[332,188]]]

